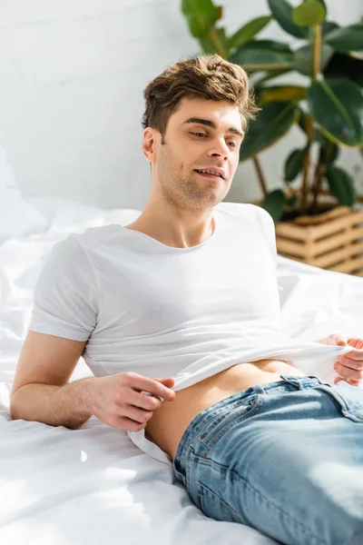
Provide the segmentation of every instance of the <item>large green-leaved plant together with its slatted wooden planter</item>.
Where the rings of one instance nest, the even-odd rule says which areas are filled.
[[[267,0],[267,5],[269,15],[231,36],[218,25],[223,10],[212,0],[182,0],[182,13],[204,54],[218,53],[249,74],[260,113],[250,122],[240,162],[254,163],[263,193],[260,205],[276,223],[278,252],[363,276],[363,212],[355,209],[354,181],[336,165],[342,146],[363,150],[363,25],[340,27],[327,20],[323,0],[304,0],[296,7],[287,0]],[[299,39],[294,49],[256,38],[272,19]],[[273,82],[294,73],[302,74],[306,84]],[[289,149],[282,188],[269,192],[259,155],[293,124],[299,124],[305,144]]]

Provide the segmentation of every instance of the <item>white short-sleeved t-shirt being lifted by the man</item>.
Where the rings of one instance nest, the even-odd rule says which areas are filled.
[[[187,388],[240,362],[334,362],[347,346],[291,339],[280,330],[274,223],[250,203],[220,203],[214,231],[174,248],[119,224],[56,243],[34,289],[30,330],[87,341],[95,376],[137,372]],[[162,399],[162,398],[161,398]],[[163,400],[162,400],[163,401]],[[128,431],[153,458],[169,455]]]

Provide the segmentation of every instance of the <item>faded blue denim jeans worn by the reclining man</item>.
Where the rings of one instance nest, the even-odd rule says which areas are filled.
[[[174,473],[212,519],[288,545],[362,545],[363,390],[280,377],[201,411]]]

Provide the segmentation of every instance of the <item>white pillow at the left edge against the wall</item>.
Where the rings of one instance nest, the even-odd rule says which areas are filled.
[[[22,198],[14,172],[6,163],[5,149],[0,145],[0,242],[40,233],[47,227],[44,216]]]

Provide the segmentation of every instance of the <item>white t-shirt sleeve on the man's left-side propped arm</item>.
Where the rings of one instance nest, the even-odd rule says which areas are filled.
[[[54,244],[39,274],[29,330],[87,341],[96,326],[98,303],[92,264],[71,234]]]

